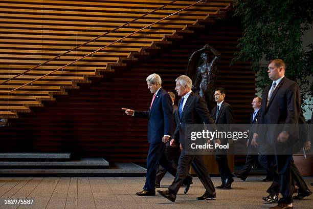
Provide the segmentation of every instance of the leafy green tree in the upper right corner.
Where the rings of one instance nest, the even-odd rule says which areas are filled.
[[[234,0],[235,16],[243,26],[239,39],[239,52],[233,59],[251,61],[252,68],[260,76],[257,87],[264,89],[270,83],[267,70],[260,66],[264,57],[267,61],[281,58],[286,62],[286,77],[298,83],[301,90],[302,107],[309,97],[313,101],[313,44],[304,51],[302,36],[312,28],[312,0]]]

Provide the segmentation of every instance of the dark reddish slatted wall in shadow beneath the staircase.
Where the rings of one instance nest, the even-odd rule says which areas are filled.
[[[255,74],[249,63],[230,65],[241,36],[236,21],[226,19],[191,39],[177,41],[170,50],[141,65],[104,79],[90,90],[56,96],[57,102],[34,109],[34,115],[11,120],[2,129],[0,152],[72,152],[78,156],[102,156],[110,161],[144,162],[148,149],[147,120],[126,116],[122,107],[146,110],[152,95],[146,77],[161,75],[162,86],[174,92],[175,78],[186,73],[189,56],[209,44],[222,55],[217,86],[224,87],[236,122],[249,120],[255,95]]]

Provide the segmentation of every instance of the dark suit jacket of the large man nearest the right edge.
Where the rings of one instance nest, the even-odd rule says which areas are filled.
[[[270,144],[277,144],[278,134],[282,131],[289,133],[288,143],[295,143],[299,138],[299,130],[290,124],[298,124],[300,115],[300,89],[296,82],[282,78],[278,86],[272,93],[269,104],[267,103],[267,95],[269,94],[271,85],[264,89],[261,105],[261,121],[260,124],[272,124],[267,131],[258,129],[261,140],[267,138]],[[275,124],[281,124],[276,126]],[[266,136],[262,134],[266,134]]]

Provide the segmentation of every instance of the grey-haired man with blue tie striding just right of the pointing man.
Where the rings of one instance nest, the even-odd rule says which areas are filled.
[[[178,120],[173,139],[170,141],[171,145],[176,145],[179,138],[180,148],[182,150],[180,159],[178,160],[177,173],[173,183],[168,187],[167,191],[158,191],[163,197],[174,202],[176,194],[183,184],[183,180],[188,175],[188,171],[192,164],[192,168],[197,174],[198,178],[204,185],[206,192],[204,195],[197,198],[197,200],[216,198],[213,182],[210,178],[208,170],[204,164],[201,155],[186,154],[185,149],[185,126],[187,124],[213,124],[214,120],[211,118],[206,102],[202,97],[191,91],[192,81],[186,76],[182,75],[176,80],[176,88],[178,96],[182,96],[178,106]],[[215,143],[220,143],[218,139]]]

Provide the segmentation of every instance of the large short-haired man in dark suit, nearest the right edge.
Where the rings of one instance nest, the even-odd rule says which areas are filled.
[[[292,146],[290,144],[299,138],[299,133],[292,124],[298,124],[299,120],[300,89],[296,82],[284,77],[286,65],[283,60],[271,60],[268,69],[267,73],[273,82],[264,89],[262,95],[260,124],[271,124],[271,126],[266,127],[265,131],[258,129],[254,134],[252,144],[259,143],[260,154],[265,153],[267,155],[264,156],[272,156],[276,162],[278,175],[274,176],[274,183],[280,188],[282,198],[279,199],[277,206],[270,208],[292,209],[292,195],[295,187],[292,184],[290,173],[290,163],[292,162]],[[275,126],[275,124],[280,124],[280,126]],[[257,137],[260,138],[260,141]],[[269,155],[269,153],[275,155]]]

